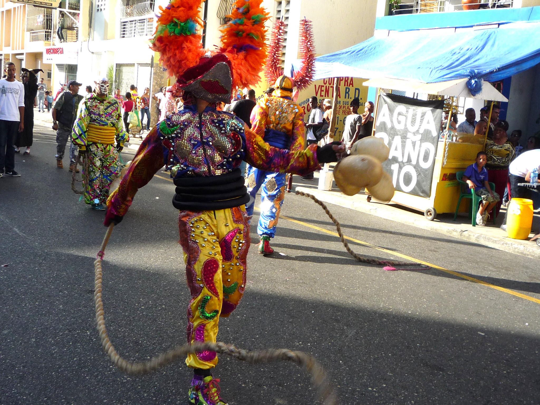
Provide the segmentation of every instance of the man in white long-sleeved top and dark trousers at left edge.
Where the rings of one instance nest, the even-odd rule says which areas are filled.
[[[24,130],[24,86],[15,80],[15,64],[6,65],[7,76],[0,79],[0,177],[21,177],[15,171],[15,140]],[[5,171],[4,171],[5,170]]]

